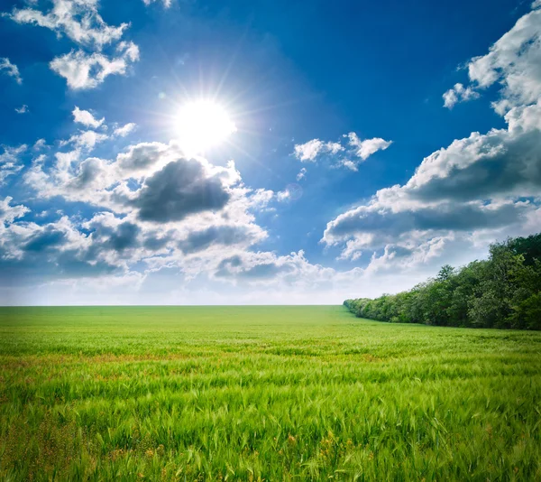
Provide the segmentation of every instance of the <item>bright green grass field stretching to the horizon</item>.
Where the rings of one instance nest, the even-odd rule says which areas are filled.
[[[2,480],[541,480],[541,333],[0,308]]]

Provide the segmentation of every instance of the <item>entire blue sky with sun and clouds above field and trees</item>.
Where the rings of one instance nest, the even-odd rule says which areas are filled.
[[[342,303],[541,231],[541,0],[2,0],[0,88],[0,305]]]

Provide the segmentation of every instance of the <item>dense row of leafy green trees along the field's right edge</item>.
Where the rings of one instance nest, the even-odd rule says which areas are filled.
[[[344,305],[360,318],[392,323],[541,329],[541,233],[495,243],[487,260],[446,264],[408,292]]]

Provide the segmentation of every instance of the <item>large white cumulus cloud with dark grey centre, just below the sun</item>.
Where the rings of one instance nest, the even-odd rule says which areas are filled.
[[[54,157],[52,163],[34,160],[24,181],[42,198],[107,209],[81,224],[85,256],[123,273],[143,260],[149,269],[186,269],[193,257],[196,275],[212,269],[216,253],[268,236],[252,210],[265,209],[274,193],[244,187],[233,162],[188,158],[175,142],[135,144],[111,161],[84,158],[78,149]]]

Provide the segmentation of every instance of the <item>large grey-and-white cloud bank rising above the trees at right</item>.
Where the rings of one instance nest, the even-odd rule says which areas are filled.
[[[523,16],[487,55],[468,64],[472,86],[457,84],[446,93],[446,107],[452,107],[476,97],[472,89],[500,82],[493,107],[507,127],[455,140],[427,156],[406,184],[378,190],[368,203],[330,221],[322,241],[342,246],[342,259],[367,252],[371,269],[385,264],[404,269],[457,252],[456,246],[469,253],[498,236],[538,230],[540,14]]]

